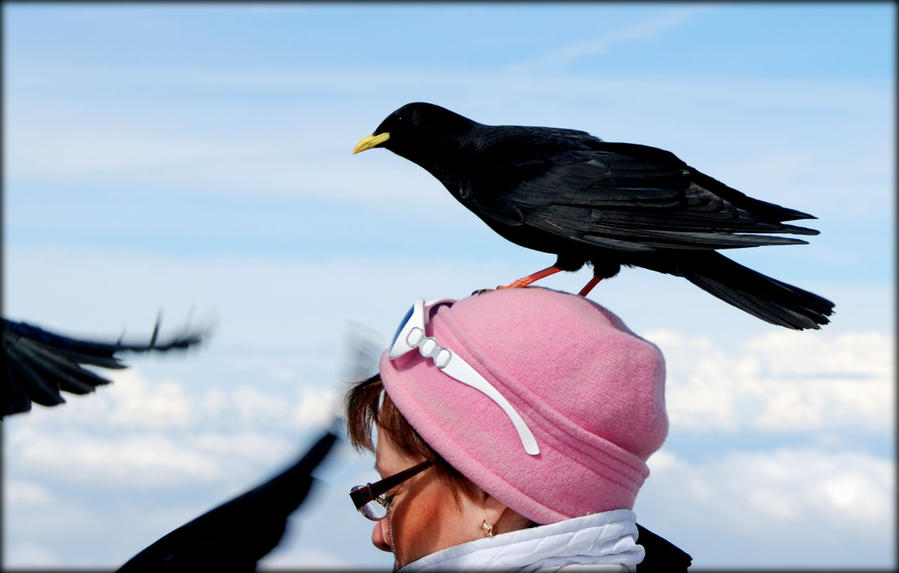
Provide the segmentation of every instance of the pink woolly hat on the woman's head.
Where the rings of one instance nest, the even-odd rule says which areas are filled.
[[[533,433],[419,352],[381,357],[384,388],[422,438],[484,491],[536,523],[632,508],[665,441],[665,365],[605,308],[544,288],[425,309],[426,332],[508,400]]]

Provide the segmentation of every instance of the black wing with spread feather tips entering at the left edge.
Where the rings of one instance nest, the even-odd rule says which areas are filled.
[[[145,344],[79,340],[25,322],[3,319],[3,385],[0,419],[27,412],[31,403],[56,406],[65,402],[61,392],[87,394],[109,380],[84,368],[125,368],[119,352],[167,352],[199,344],[199,333],[185,333],[158,341],[159,320]]]

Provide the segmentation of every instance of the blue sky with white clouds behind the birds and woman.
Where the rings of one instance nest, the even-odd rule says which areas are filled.
[[[7,4],[4,18],[4,314],[95,336],[143,334],[160,308],[170,329],[217,325],[198,352],[134,359],[95,395],[4,422],[6,565],[123,563],[312,439],[348,331],[386,338],[416,296],[551,262],[417,166],[351,154],[416,100],[655,145],[815,214],[810,245],[732,254],[834,300],[820,332],[648,271],[591,293],[668,361],[671,433],[636,510],[697,566],[894,564],[892,5]],[[342,450],[267,563],[389,566],[346,499],[371,463]]]

